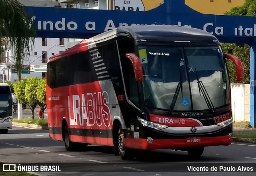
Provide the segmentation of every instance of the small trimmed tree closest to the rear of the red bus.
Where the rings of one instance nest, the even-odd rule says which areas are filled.
[[[40,79],[36,87],[36,99],[42,110],[42,118],[44,119],[44,110],[46,109],[46,79]]]

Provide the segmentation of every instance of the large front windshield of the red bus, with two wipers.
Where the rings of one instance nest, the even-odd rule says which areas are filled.
[[[220,46],[139,45],[145,106],[170,111],[212,110],[230,103]]]

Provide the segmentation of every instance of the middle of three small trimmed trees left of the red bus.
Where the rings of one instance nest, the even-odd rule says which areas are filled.
[[[24,90],[27,104],[32,111],[32,119],[34,119],[34,111],[38,103],[38,100],[36,99],[36,91],[39,81],[40,79],[38,79],[37,77],[27,78],[26,88]]]

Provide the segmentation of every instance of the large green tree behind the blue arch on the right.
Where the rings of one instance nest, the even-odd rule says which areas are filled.
[[[235,16],[256,16],[256,0],[245,0],[244,4],[239,7],[232,8],[225,15]],[[235,66],[232,61],[227,61],[232,83],[250,83],[250,47],[247,44],[222,44],[223,51],[238,57],[244,66],[244,80],[236,81]]]

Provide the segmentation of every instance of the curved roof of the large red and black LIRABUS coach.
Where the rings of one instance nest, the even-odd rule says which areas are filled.
[[[54,61],[58,58],[72,55],[81,51],[86,51],[88,49],[88,45],[105,42],[107,40],[116,38],[117,36],[125,36],[133,39],[136,42],[158,44],[219,44],[218,39],[212,34],[191,27],[169,25],[122,26],[102,34],[98,34],[97,36],[94,36],[90,39],[83,40],[70,49],[52,56],[50,61]]]

